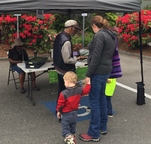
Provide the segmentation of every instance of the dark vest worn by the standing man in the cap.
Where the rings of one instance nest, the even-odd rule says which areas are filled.
[[[55,42],[54,42],[54,52],[53,52],[54,66],[58,71],[60,71],[62,73],[65,73],[67,71],[75,71],[75,65],[74,64],[65,64],[63,61],[63,58],[62,58],[61,49],[62,49],[63,44],[66,41],[71,42],[71,37],[67,33],[62,32],[57,35]],[[71,48],[71,57],[73,57],[72,48]]]

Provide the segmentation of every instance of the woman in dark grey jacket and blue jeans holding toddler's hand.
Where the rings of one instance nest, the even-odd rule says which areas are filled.
[[[91,118],[88,132],[80,134],[83,141],[100,140],[100,134],[107,133],[107,102],[105,86],[112,71],[112,57],[116,47],[116,36],[109,30],[109,23],[101,16],[94,16],[91,27],[95,33],[90,42],[88,71],[85,81],[91,80],[89,103]]]

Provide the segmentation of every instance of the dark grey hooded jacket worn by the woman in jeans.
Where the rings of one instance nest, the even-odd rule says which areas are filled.
[[[88,46],[88,71],[86,76],[94,74],[110,74],[112,57],[116,46],[116,36],[112,31],[98,31]]]

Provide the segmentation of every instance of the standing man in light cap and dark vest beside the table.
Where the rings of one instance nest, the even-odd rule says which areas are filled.
[[[54,42],[53,48],[53,62],[55,70],[58,73],[58,97],[61,91],[65,89],[63,75],[67,71],[75,72],[75,64],[77,57],[73,56],[73,48],[71,37],[74,36],[80,27],[75,20],[68,20],[65,22],[65,29],[59,33]],[[58,99],[57,97],[57,99]]]

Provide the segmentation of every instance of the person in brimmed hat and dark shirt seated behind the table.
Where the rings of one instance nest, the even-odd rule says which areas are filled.
[[[25,72],[17,66],[17,63],[21,63],[23,61],[28,60],[28,54],[25,49],[23,49],[23,42],[21,39],[16,38],[14,41],[14,44],[12,46],[12,49],[9,50],[8,59],[12,66],[12,70],[18,72],[19,74],[19,83],[20,83],[20,89],[21,93],[25,93],[26,90],[24,88],[24,81],[25,81]],[[35,72],[31,73],[31,76],[35,77]],[[33,79],[33,90],[39,91],[40,89],[36,86],[35,78]]]

